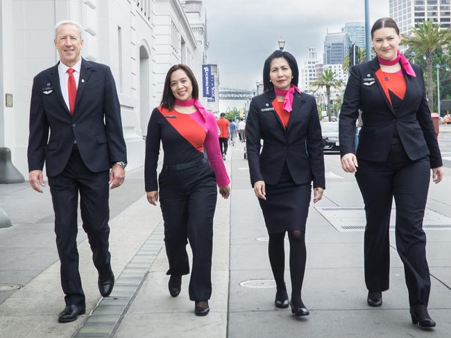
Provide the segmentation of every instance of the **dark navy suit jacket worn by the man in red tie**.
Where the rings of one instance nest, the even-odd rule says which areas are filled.
[[[121,106],[111,70],[85,59],[80,67],[74,116],[62,98],[58,64],[35,76],[28,170],[42,170],[45,160],[47,176],[57,176],[69,161],[74,141],[90,171],[105,171],[112,162],[127,162]]]

